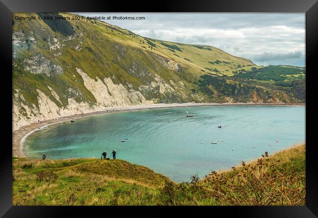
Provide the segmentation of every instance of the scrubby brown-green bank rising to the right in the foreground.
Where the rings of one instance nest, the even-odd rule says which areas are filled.
[[[273,157],[266,152],[254,163],[242,161],[241,167],[212,171],[201,180],[196,175],[191,182],[166,182],[160,200],[164,205],[305,205],[305,145]]]

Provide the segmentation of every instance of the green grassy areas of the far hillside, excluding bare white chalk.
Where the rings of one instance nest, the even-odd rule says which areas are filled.
[[[67,13],[60,14],[72,16]],[[32,13],[31,15],[37,16]],[[297,95],[303,90],[303,85],[300,88],[295,86],[293,89],[273,84],[273,81],[262,80],[264,77],[251,79],[246,76],[238,77],[238,72],[250,72],[252,67],[258,69],[261,66],[253,64],[248,59],[232,56],[216,47],[148,39],[102,21],[68,20],[67,22],[74,29],[72,40],[68,40],[68,36],[60,32],[53,31],[43,20],[14,22],[13,31],[22,31],[24,37],[21,46],[14,46],[13,93],[16,93],[17,89],[23,94],[24,99],[19,99],[23,104],[38,107],[36,89],[44,92],[59,107],[67,106],[68,98],[94,104],[95,98],[86,89],[75,67],[82,69],[93,79],[112,78],[114,83],[121,83],[124,86],[127,86],[128,82],[135,90],[138,90],[140,85],[149,85],[151,81],[155,81],[154,76],[158,74],[178,94],[162,95],[158,91],[142,93],[146,99],[157,99],[157,102],[225,102],[225,97],[233,98],[234,102],[247,102],[256,88],[261,89],[259,95],[265,99],[265,102],[276,95],[273,94],[274,90],[286,92],[291,96],[290,100],[286,100],[280,98],[281,95],[277,95],[284,102],[304,101],[303,94]],[[24,41],[29,36],[33,36],[35,41]],[[63,44],[60,50],[50,50],[48,41],[54,44],[54,39]],[[82,49],[77,51],[75,46],[80,43]],[[62,54],[55,56],[59,52]],[[45,59],[62,66],[63,74],[46,76],[25,71],[23,60],[37,54],[42,54]],[[160,63],[159,57],[176,61],[181,69],[179,71],[168,69]],[[134,64],[137,70],[132,73],[130,69]],[[291,66],[285,68],[294,69]],[[274,71],[273,74],[278,77],[281,75],[279,70]],[[202,85],[200,80],[206,76],[211,77],[214,82]],[[287,75],[286,78],[290,80],[290,76]],[[302,78],[298,76],[292,75],[297,81]],[[170,80],[173,80],[179,88],[173,86]],[[228,84],[232,86],[231,92],[224,91],[227,90]],[[56,91],[62,105],[54,98],[47,86]],[[68,91],[69,88],[75,92]],[[247,91],[241,92],[241,89]],[[21,114],[25,114],[23,108],[21,110]]]

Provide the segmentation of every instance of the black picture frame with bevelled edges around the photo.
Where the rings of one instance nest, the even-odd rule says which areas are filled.
[[[316,95],[314,75],[315,53],[318,51],[318,2],[317,0],[180,0],[180,1],[102,1],[102,0],[0,0],[0,54],[1,54],[1,93],[3,116],[0,158],[0,216],[3,217],[59,217],[66,212],[81,214],[90,212],[93,216],[103,216],[105,213],[121,214],[124,207],[119,209],[105,207],[47,207],[47,206],[12,206],[12,13],[13,12],[301,12],[306,13],[306,206],[267,206],[267,207],[169,207],[183,213],[189,210],[207,212],[211,216],[217,213],[222,216],[240,217],[308,217],[318,216],[318,158],[316,158],[315,142],[317,135],[314,126],[316,117],[314,97]],[[310,100],[310,98],[312,98]],[[11,131],[11,133],[10,133]],[[3,140],[5,139],[5,140]],[[139,216],[140,207],[125,207]],[[165,213],[158,207],[142,207]],[[149,213],[148,213],[149,212]],[[159,215],[157,213],[156,215]],[[107,215],[110,216],[110,215]],[[166,216],[166,215],[164,215]],[[203,216],[200,215],[199,216]]]

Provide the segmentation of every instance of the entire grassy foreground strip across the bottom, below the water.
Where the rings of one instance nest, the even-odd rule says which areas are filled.
[[[305,144],[175,183],[124,160],[13,159],[13,205],[305,205]]]

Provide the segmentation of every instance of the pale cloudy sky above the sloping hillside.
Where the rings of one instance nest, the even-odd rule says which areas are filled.
[[[211,45],[258,65],[305,66],[305,13],[74,13],[111,16],[103,21],[142,37]]]

